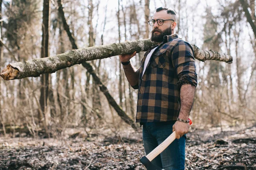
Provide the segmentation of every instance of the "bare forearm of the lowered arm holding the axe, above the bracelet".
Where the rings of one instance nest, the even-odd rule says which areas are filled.
[[[192,109],[195,97],[195,86],[191,84],[184,84],[180,88],[180,114],[179,118],[189,119],[189,113]]]

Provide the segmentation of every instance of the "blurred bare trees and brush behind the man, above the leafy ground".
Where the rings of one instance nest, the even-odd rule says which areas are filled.
[[[232,64],[196,60],[198,87],[190,114],[194,126],[253,124],[255,0],[0,0],[0,68],[74,48],[149,38],[148,20],[160,6],[176,11],[176,33],[183,40],[233,57]],[[137,68],[143,54],[132,59]],[[128,84],[118,56],[90,63],[135,121],[137,91]],[[129,127],[83,65],[36,78],[0,79],[0,126],[1,134],[14,136],[20,129],[32,136],[58,136],[73,127],[86,133]]]

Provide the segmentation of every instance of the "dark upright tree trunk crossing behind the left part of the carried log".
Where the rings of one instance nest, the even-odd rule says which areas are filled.
[[[49,45],[49,17],[50,17],[50,0],[44,0],[43,8],[43,25],[42,25],[42,46],[41,46],[41,58],[48,57],[48,45]],[[41,111],[44,116],[44,128],[47,133],[47,124],[46,124],[46,108],[47,108],[47,98],[48,98],[48,88],[49,88],[49,74],[43,74],[41,77],[41,95],[40,95],[40,106]]]

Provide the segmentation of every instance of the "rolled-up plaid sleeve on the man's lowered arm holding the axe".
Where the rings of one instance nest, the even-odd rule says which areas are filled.
[[[180,88],[184,84],[191,84],[196,87],[197,74],[192,46],[183,40],[178,42],[171,53],[171,59],[179,77],[178,87]]]

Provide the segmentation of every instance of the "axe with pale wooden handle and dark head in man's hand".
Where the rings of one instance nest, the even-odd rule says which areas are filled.
[[[191,125],[191,124],[192,124],[192,121],[189,119],[189,125]],[[151,163],[151,161],[155,157],[157,157],[157,155],[159,155],[161,152],[163,152],[163,150],[165,150],[166,147],[168,147],[175,140],[175,138],[176,138],[175,136],[176,136],[176,134],[174,131],[161,144],[159,144],[156,148],[154,148],[154,150],[152,150],[150,153],[148,153],[147,156],[143,156],[140,159],[140,162],[147,168],[147,170],[164,170],[161,167],[157,167],[156,165],[153,165]]]

